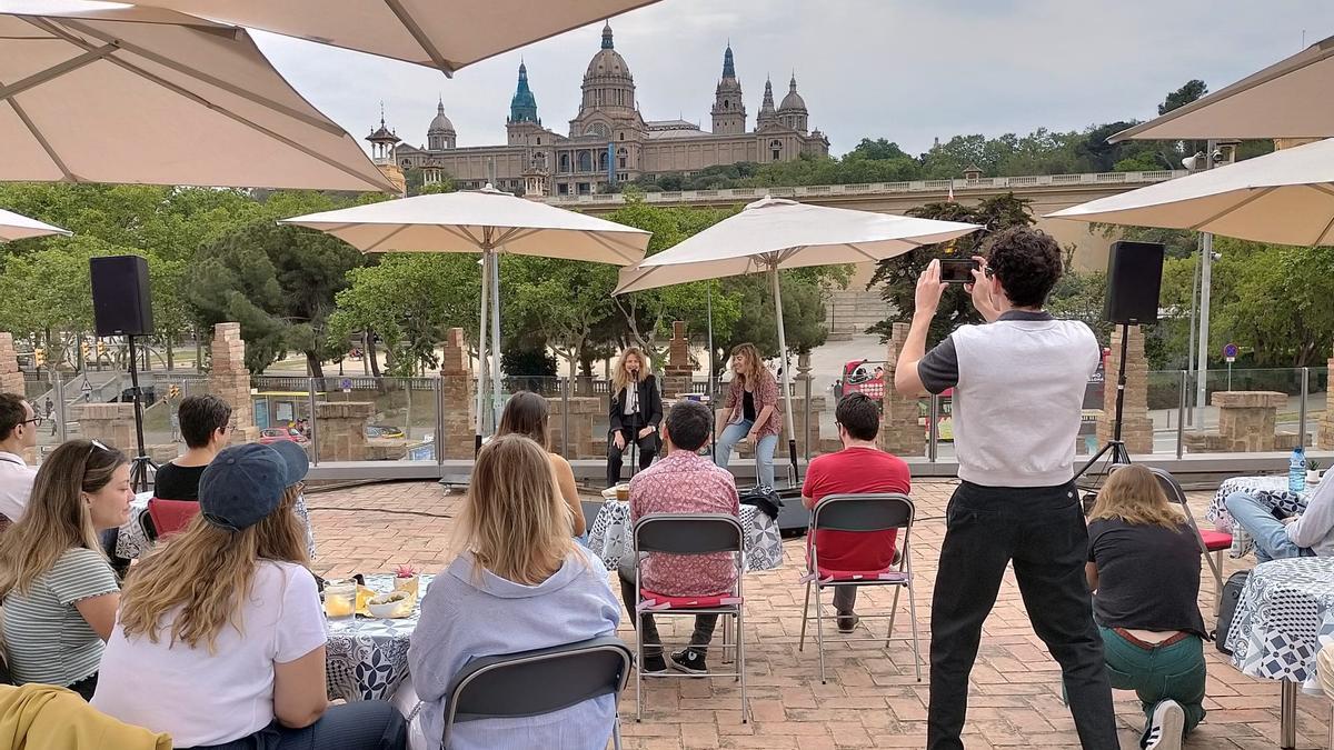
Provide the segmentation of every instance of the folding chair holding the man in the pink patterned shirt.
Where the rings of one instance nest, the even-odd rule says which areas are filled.
[[[718,614],[736,619],[736,669],[728,673],[708,671],[706,674],[671,674],[659,677],[731,677],[742,685],[742,723],[748,722],[746,709],[746,637],[744,598],[742,577],[746,573],[746,531],[740,520],[726,514],[676,514],[655,512],[635,522],[635,631],[643,633],[643,615],[702,615]],[[667,597],[650,591],[640,583],[643,552],[668,555],[708,555],[734,552],[736,560],[736,586],[732,591],[708,597]],[[644,663],[644,641],[636,637],[639,663]],[[710,646],[710,649],[714,649]],[[719,653],[728,653],[727,621],[723,623],[723,646]],[[666,655],[667,651],[664,650]],[[724,661],[726,663],[726,661]],[[635,670],[635,721],[644,715],[643,674]]]

